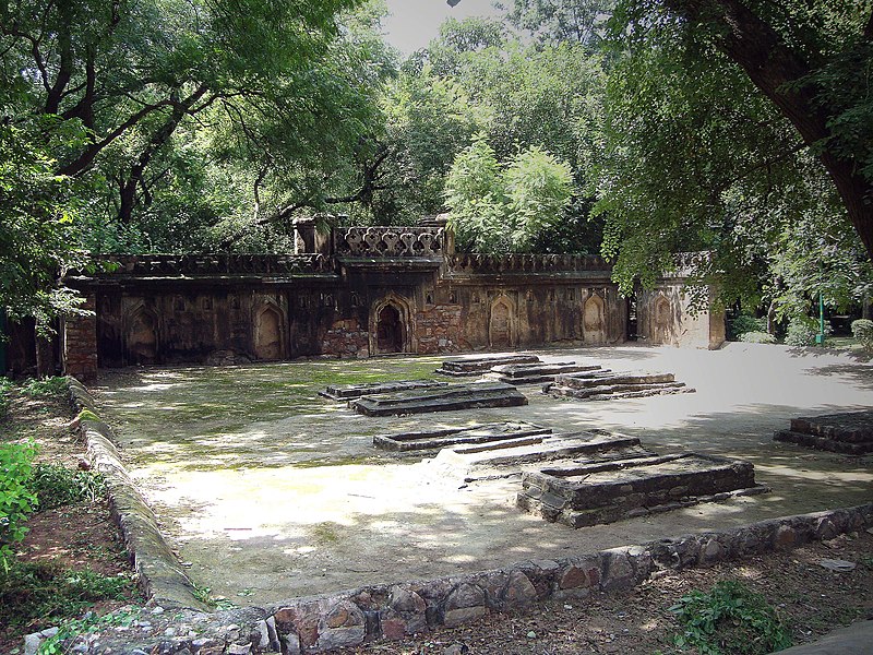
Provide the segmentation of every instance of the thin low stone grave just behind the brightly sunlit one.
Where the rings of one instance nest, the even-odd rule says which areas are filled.
[[[373,445],[391,451],[418,451],[434,450],[462,443],[489,443],[494,441],[521,443],[522,441],[527,442],[530,437],[537,437],[541,441],[541,436],[551,434],[551,428],[543,428],[525,421],[478,424],[463,428],[446,428],[444,430],[380,434],[373,437]]]

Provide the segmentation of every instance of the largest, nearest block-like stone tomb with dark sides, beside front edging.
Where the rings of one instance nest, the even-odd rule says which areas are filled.
[[[584,527],[765,491],[750,462],[687,453],[527,473],[517,503]]]

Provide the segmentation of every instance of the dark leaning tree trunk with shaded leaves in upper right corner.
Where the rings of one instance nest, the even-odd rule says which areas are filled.
[[[873,60],[868,0],[621,0],[614,34],[632,50],[673,34],[697,59],[720,52],[744,72],[830,177],[873,254]],[[669,38],[669,37],[668,37]]]

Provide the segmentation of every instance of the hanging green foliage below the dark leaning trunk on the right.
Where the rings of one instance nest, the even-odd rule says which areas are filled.
[[[683,28],[660,22],[646,38],[611,71],[598,175],[603,251],[622,289],[650,285],[678,252],[706,250],[697,279],[728,303],[764,300],[789,315],[818,290],[835,303],[860,297],[863,246],[791,122]]]

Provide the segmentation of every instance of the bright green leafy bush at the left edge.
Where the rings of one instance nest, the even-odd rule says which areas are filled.
[[[29,486],[35,454],[29,444],[0,444],[0,560],[4,568],[14,545],[24,538],[24,522],[37,504]]]

